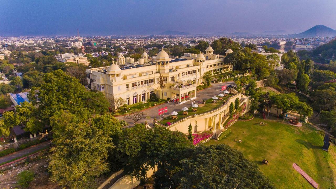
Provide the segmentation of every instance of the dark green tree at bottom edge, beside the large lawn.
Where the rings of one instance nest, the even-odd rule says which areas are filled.
[[[200,146],[182,160],[179,188],[274,188],[256,164],[227,145]]]

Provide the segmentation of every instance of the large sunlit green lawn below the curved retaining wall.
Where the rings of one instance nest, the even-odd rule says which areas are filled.
[[[259,122],[267,126],[259,126]],[[224,139],[211,139],[205,145],[227,144],[241,150],[245,157],[259,165],[260,170],[277,188],[313,188],[293,167],[297,163],[319,188],[336,188],[336,148],[322,150],[324,135],[304,124],[294,127],[282,121],[263,120],[256,116],[251,121],[238,121]],[[235,139],[242,140],[242,143]],[[263,165],[261,161],[269,163]]]

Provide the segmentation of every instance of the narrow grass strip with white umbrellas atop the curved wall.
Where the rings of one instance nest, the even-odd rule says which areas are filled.
[[[223,100],[227,100],[230,96],[232,95],[228,95],[227,97],[222,97]],[[212,103],[213,99],[208,99],[206,102],[205,102],[205,106],[202,106],[202,107],[198,107],[197,108],[197,111],[196,112],[193,112],[193,109],[190,107],[188,111],[188,114],[187,115],[183,115],[183,112],[184,111],[179,111],[177,112],[177,119],[171,119],[171,116],[167,116],[166,119],[163,120],[163,124],[166,124],[167,122],[170,122],[170,123],[173,123],[173,122],[176,122],[178,120],[181,120],[187,116],[191,116],[191,115],[195,115],[195,114],[202,114],[202,113],[205,113],[205,112],[208,112],[210,110],[214,110],[216,108],[219,108],[220,106],[223,105],[223,100],[217,100],[217,103]],[[159,120],[158,120],[159,121]],[[159,121],[161,123],[161,121]]]

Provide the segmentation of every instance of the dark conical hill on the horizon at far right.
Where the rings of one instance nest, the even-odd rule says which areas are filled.
[[[299,34],[294,34],[295,37],[334,37],[336,36],[336,30],[328,28],[324,25],[316,25],[309,30],[306,30]]]

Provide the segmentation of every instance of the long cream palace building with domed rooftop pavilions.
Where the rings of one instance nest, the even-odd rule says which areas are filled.
[[[146,101],[152,93],[160,99],[174,98],[182,104],[196,97],[196,86],[203,82],[205,72],[216,75],[232,71],[232,65],[224,64],[225,56],[213,51],[209,46],[205,53],[185,53],[181,58],[171,59],[162,49],[153,60],[144,52],[138,62],[125,61],[119,54],[117,64],[87,69],[88,87],[103,92],[106,98],[120,97],[127,105]],[[228,49],[226,55],[231,52]],[[160,73],[165,83],[163,96]]]

